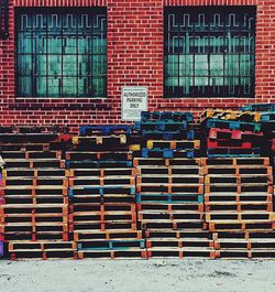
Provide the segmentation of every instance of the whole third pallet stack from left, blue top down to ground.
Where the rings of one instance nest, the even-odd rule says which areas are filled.
[[[213,257],[204,230],[204,173],[189,112],[144,112],[134,128],[138,218],[151,257]]]

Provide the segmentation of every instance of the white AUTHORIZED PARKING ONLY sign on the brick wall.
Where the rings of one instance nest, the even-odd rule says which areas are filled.
[[[140,121],[141,112],[147,110],[147,87],[124,86],[121,99],[121,119],[123,121]]]

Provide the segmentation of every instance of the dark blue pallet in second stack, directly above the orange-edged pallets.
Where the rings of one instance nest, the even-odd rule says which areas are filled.
[[[66,169],[98,169],[98,167],[132,167],[133,162],[130,160],[97,160],[97,161],[66,161]]]

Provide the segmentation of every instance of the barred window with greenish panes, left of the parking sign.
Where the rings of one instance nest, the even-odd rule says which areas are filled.
[[[19,97],[106,97],[106,9],[20,10]]]

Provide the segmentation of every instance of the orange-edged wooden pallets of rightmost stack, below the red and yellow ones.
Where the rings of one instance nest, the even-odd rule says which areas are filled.
[[[202,159],[205,213],[217,258],[274,258],[268,158]]]

